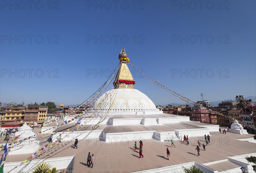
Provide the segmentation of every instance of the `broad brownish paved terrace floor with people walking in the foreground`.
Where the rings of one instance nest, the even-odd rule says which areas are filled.
[[[227,159],[227,156],[236,156],[247,153],[254,153],[256,145],[251,142],[239,141],[236,139],[250,138],[253,135],[238,135],[233,133],[220,134],[219,132],[211,132],[211,143],[206,146],[206,151],[201,147],[201,156],[197,156],[196,140],[197,138],[189,138],[190,145],[183,142],[175,142],[176,147],[171,147],[170,142],[160,142],[154,139],[147,139],[143,142],[144,158],[139,158],[139,151],[134,150],[134,141],[105,143],[100,141],[79,141],[79,148],[74,149],[71,142],[64,147],[58,148],[45,154],[38,159],[55,158],[61,156],[75,156],[73,173],[86,173],[93,171],[98,173],[102,171],[142,171],[159,167],[166,167],[185,162],[207,163],[217,160]],[[48,139],[45,136],[44,141]],[[202,136],[201,139],[204,139]],[[45,145],[41,141],[41,146]],[[138,141],[137,141],[138,143]],[[167,160],[166,147],[169,147],[171,159]],[[94,154],[93,168],[86,165],[87,154]],[[6,162],[23,161],[31,154],[7,156]],[[88,172],[89,173],[89,172]]]

